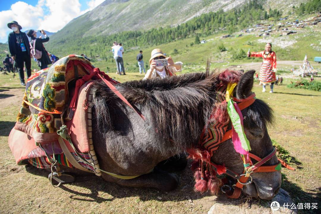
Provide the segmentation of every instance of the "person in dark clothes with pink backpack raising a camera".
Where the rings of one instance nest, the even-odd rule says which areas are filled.
[[[30,47],[35,47],[36,50],[42,53],[41,58],[37,59],[37,63],[40,69],[45,69],[48,68],[49,64],[51,64],[51,60],[42,43],[48,42],[49,37],[47,37],[47,34],[44,30],[40,30],[40,32],[45,36],[45,38],[37,38],[37,31],[32,29],[28,31],[27,35],[30,37]]]

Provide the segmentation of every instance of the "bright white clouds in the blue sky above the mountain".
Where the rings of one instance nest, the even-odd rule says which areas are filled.
[[[56,32],[62,29],[74,18],[88,12],[101,4],[104,0],[90,0],[88,9],[81,11],[79,0],[39,0],[36,6],[25,2],[16,2],[10,10],[0,11],[0,42],[7,41],[8,34],[12,32],[6,25],[10,21],[17,21],[22,31],[28,29],[44,29]]]

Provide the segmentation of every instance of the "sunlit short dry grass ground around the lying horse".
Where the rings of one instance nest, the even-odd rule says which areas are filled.
[[[201,48],[199,54],[202,54]],[[185,56],[181,57],[185,59]],[[203,71],[204,64],[190,64],[184,67],[183,72]],[[291,65],[280,66],[281,70]],[[251,64],[243,67],[251,67]],[[110,72],[109,75],[121,82],[143,78],[138,72],[130,72],[126,76]],[[320,77],[316,79],[321,80]],[[296,168],[295,171],[282,169],[282,188],[290,193],[296,204],[317,202],[320,206],[321,92],[287,88],[290,81],[294,79],[285,78],[283,86],[275,86],[273,94],[262,93],[257,83],[253,91],[257,98],[265,100],[273,108],[275,123],[268,128],[270,137],[289,151],[289,164]],[[172,192],[127,188],[95,176],[77,177],[72,184],[52,187],[47,171],[17,166],[8,147],[8,135],[15,124],[23,93],[19,78],[0,76],[1,213],[207,213],[213,205],[216,196],[193,191],[190,169],[178,174],[181,183]],[[249,203],[245,195],[242,198],[243,203]],[[269,207],[265,201],[251,201]],[[300,213],[317,213],[311,211],[314,210],[299,210]]]

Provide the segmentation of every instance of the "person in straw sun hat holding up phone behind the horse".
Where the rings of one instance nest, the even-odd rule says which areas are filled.
[[[156,66],[154,60],[167,59],[167,66]],[[175,62],[172,60],[172,57],[166,57],[162,50],[156,48],[152,50],[151,59],[149,60],[151,67],[147,70],[144,79],[151,79],[155,77],[165,78],[167,76],[173,76],[176,72],[180,72],[182,69],[182,62]]]

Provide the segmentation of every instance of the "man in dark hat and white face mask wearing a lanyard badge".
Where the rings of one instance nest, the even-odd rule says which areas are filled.
[[[28,37],[24,32],[20,31],[22,27],[18,22],[9,22],[7,26],[13,30],[8,36],[11,58],[16,61],[21,85],[25,86],[23,63],[26,66],[27,78],[31,76],[31,58]]]

